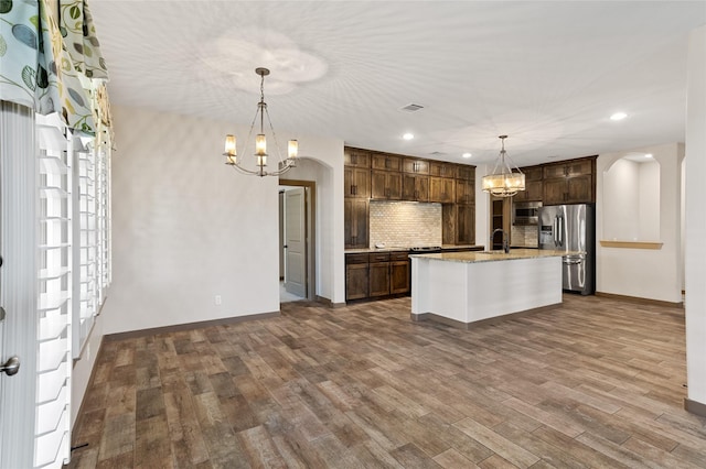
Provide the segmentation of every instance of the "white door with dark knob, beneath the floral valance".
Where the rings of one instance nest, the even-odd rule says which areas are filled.
[[[0,374],[0,467],[34,463],[36,410],[38,176],[34,111],[0,101],[0,363],[19,357],[14,375]]]

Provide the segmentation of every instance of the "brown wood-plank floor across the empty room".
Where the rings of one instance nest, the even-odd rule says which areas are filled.
[[[409,298],[104,343],[74,468],[706,467],[684,312],[565,295],[473,330]]]

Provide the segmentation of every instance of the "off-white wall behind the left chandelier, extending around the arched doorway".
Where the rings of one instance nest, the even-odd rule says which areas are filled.
[[[278,179],[238,174],[221,156],[224,135],[247,135],[247,127],[119,107],[114,121],[114,264],[104,334],[279,310]],[[280,129],[278,135],[298,137],[302,156],[333,168],[341,207],[329,217],[332,266],[340,251],[331,299],[342,301],[343,144]]]

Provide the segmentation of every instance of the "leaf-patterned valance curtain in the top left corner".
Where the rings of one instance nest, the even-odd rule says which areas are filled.
[[[86,0],[0,0],[0,99],[110,132],[108,73]]]

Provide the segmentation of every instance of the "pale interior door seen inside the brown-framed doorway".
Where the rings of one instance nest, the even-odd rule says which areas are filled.
[[[285,193],[285,288],[307,297],[307,217],[303,187]]]

